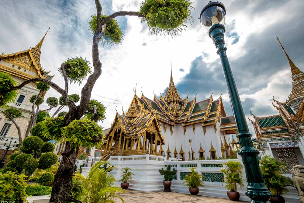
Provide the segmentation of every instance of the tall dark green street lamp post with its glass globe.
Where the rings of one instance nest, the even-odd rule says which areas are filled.
[[[225,47],[225,6],[220,2],[209,2],[201,11],[199,16],[202,26],[209,30],[209,37],[212,38],[219,54],[226,79],[227,89],[237,126],[237,137],[240,139],[241,149],[238,152],[242,156],[247,178],[247,190],[245,194],[251,199],[251,203],[265,203],[271,198],[271,193],[264,184],[259,167],[258,154],[251,142],[252,135],[249,132],[243,107],[237,92],[230,64],[226,55]]]

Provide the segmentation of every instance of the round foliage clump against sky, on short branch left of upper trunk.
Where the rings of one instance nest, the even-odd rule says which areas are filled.
[[[68,58],[64,63],[69,64],[70,67],[67,68],[65,71],[67,73],[67,78],[70,80],[70,83],[78,83],[80,84],[81,81],[87,78],[88,74],[91,74],[91,67],[89,66],[90,62],[83,58]],[[61,68],[58,71],[62,75]]]

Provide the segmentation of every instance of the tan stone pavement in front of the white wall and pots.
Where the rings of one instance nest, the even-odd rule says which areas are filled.
[[[244,201],[231,201],[229,199],[206,197],[199,195],[190,195],[176,192],[141,192],[135,190],[127,190],[128,193],[120,194],[125,203],[237,203]],[[116,203],[122,203],[120,199],[114,200]]]

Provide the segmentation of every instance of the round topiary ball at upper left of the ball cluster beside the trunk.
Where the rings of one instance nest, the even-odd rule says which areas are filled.
[[[30,154],[35,151],[40,151],[42,146],[43,146],[43,140],[41,138],[37,136],[29,136],[24,138],[24,140],[22,141],[22,146],[20,150],[23,153]]]

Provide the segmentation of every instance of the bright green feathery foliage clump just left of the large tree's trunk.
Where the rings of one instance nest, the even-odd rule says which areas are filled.
[[[62,140],[64,117],[47,118],[42,122],[43,135],[49,140]]]

